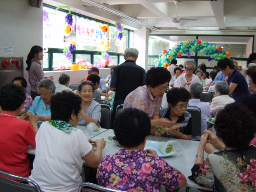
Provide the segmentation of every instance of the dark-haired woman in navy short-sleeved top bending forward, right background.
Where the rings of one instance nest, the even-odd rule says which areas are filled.
[[[239,96],[249,93],[248,85],[244,76],[234,69],[234,64],[230,59],[225,58],[218,60],[217,65],[222,73],[228,76],[228,85],[230,87],[228,95],[232,96],[232,98],[236,100]]]

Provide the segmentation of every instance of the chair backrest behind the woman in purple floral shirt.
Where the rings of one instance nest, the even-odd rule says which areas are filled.
[[[104,192],[124,192],[124,191],[103,187],[103,186],[96,185],[96,184],[89,183],[89,182],[82,183],[79,186],[79,189],[78,189],[78,192],[99,192],[99,191],[104,191]]]

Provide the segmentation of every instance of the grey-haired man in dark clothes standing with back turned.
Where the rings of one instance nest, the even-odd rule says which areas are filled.
[[[116,114],[116,107],[124,104],[126,96],[139,86],[146,84],[145,70],[136,65],[139,51],[135,48],[124,50],[125,62],[116,66],[112,72],[110,90],[115,91],[112,117]]]

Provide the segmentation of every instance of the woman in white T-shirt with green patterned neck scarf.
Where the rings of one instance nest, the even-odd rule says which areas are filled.
[[[81,101],[70,91],[52,97],[52,120],[43,122],[36,134],[36,157],[30,175],[42,191],[77,192],[82,183],[83,160],[92,168],[100,163],[106,141],[96,140],[94,151],[90,144],[94,141],[88,141],[76,128]]]

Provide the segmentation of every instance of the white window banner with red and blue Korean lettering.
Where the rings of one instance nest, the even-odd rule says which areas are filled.
[[[84,18],[76,20],[76,42],[82,46],[100,46],[102,40],[107,40],[107,33],[103,33],[99,24]]]

